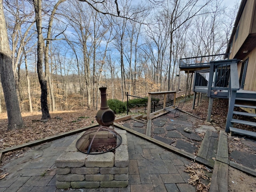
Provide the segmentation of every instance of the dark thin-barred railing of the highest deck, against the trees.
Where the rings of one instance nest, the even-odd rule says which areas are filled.
[[[211,61],[223,60],[229,54],[216,54],[200,57],[190,57],[180,59],[180,68],[197,68],[197,67],[210,67]]]

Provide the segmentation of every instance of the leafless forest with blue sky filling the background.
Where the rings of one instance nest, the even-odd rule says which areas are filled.
[[[100,86],[121,101],[127,92],[184,91],[180,58],[225,53],[238,10],[222,0],[0,0],[0,7],[0,36],[7,33],[0,52],[9,58],[0,58],[0,112],[12,108],[5,80],[14,78],[20,112],[42,111],[42,119],[97,109]],[[13,77],[4,76],[8,68]]]

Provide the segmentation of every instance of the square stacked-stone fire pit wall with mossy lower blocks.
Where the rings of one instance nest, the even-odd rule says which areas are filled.
[[[55,162],[56,187],[67,188],[123,188],[128,186],[129,156],[126,131],[116,130],[122,144],[115,152],[84,154],[76,148],[76,141]]]

